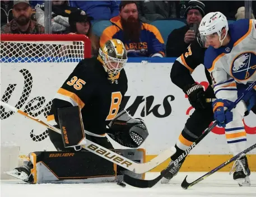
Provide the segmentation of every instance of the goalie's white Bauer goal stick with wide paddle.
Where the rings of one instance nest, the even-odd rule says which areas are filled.
[[[27,114],[24,111],[18,110],[16,107],[13,107],[13,106],[7,104],[6,102],[1,101],[1,105],[12,110],[12,111],[16,111],[19,114],[26,116],[27,118],[34,120],[41,125],[46,126],[49,129],[52,129],[54,132],[61,134],[60,129],[55,128],[54,126],[49,125],[49,124],[45,123],[44,121]],[[104,159],[111,161],[111,162],[113,162],[119,166],[122,166],[123,168],[125,168],[129,171],[135,172],[135,173],[145,173],[147,171],[152,170],[156,166],[160,165],[160,163],[169,159],[170,156],[172,156],[176,152],[176,148],[171,147],[170,149],[163,151],[159,156],[153,158],[151,161],[148,161],[146,163],[136,163],[132,160],[129,160],[128,158],[121,156],[118,153],[115,153],[113,151],[110,151],[107,148],[100,146],[99,144],[91,142],[88,139],[86,139],[86,144],[83,145],[82,147],[85,148],[87,151],[97,154],[98,156],[103,157]]]

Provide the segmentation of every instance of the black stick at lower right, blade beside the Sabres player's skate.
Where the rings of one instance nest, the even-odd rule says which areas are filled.
[[[254,149],[254,148],[256,148],[256,144],[253,144],[253,146],[250,146],[249,148],[245,149],[243,152],[240,152],[239,154],[237,154],[235,157],[232,157],[230,160],[227,160],[226,162],[222,163],[220,166],[214,168],[210,172],[208,172],[205,175],[199,177],[196,181],[187,182],[187,177],[188,177],[188,175],[187,175],[185,177],[185,179],[183,180],[183,182],[181,183],[181,187],[183,189],[188,189],[189,187],[192,187],[193,185],[198,184],[198,182],[201,182],[202,180],[206,179],[208,176],[211,176],[213,173],[215,173],[218,170],[220,170],[221,168],[225,167],[226,165],[228,165],[232,161],[238,160],[239,158],[245,156],[246,153],[252,151],[252,149]]]

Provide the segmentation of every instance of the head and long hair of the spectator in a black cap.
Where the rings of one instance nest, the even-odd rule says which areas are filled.
[[[94,18],[85,14],[85,11],[78,10],[70,14],[69,20],[69,34],[83,34],[91,40],[91,54],[97,56],[99,53],[99,37],[92,34],[91,20]]]

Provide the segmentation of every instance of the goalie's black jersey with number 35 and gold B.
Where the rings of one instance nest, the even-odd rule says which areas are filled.
[[[113,76],[105,72],[96,58],[82,60],[69,75],[53,99],[48,115],[50,124],[58,124],[57,109],[80,106],[83,126],[87,132],[105,135],[106,125],[118,114],[127,91],[124,69]]]

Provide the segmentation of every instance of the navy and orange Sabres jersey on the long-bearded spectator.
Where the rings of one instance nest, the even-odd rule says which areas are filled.
[[[101,48],[110,39],[123,41],[123,28],[120,17],[113,17],[110,21],[113,25],[107,27],[100,36]],[[138,43],[134,43],[131,40],[123,41],[123,43],[128,57],[151,57],[154,54],[158,54],[156,56],[160,57],[165,56],[164,40],[159,30],[150,24],[141,23],[141,34]]]

